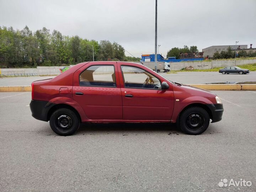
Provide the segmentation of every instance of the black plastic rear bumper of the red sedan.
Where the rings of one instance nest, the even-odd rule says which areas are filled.
[[[30,102],[30,110],[32,112],[32,117],[41,121],[48,121],[47,114],[54,106],[54,103],[48,101],[34,101],[31,100]]]

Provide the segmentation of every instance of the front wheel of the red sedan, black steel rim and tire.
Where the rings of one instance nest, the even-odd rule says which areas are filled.
[[[201,107],[190,107],[182,112],[179,126],[189,135],[199,135],[209,126],[210,117],[206,110]]]

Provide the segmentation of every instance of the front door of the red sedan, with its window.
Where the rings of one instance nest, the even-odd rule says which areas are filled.
[[[121,72],[123,119],[171,119],[174,106],[171,85],[169,89],[162,90],[159,78],[135,66],[121,65]]]

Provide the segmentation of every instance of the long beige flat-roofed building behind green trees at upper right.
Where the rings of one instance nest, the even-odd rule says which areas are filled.
[[[247,45],[210,46],[203,49],[203,52],[204,52],[203,56],[213,57],[213,54],[215,52],[218,51],[220,53],[222,50],[227,51],[229,47],[231,48],[231,50],[235,50],[235,47],[236,47],[236,50],[247,49]]]

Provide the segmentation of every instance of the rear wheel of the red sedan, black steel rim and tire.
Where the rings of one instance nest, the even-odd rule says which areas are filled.
[[[72,135],[78,130],[79,126],[79,117],[70,109],[60,108],[50,116],[50,127],[58,135]]]

